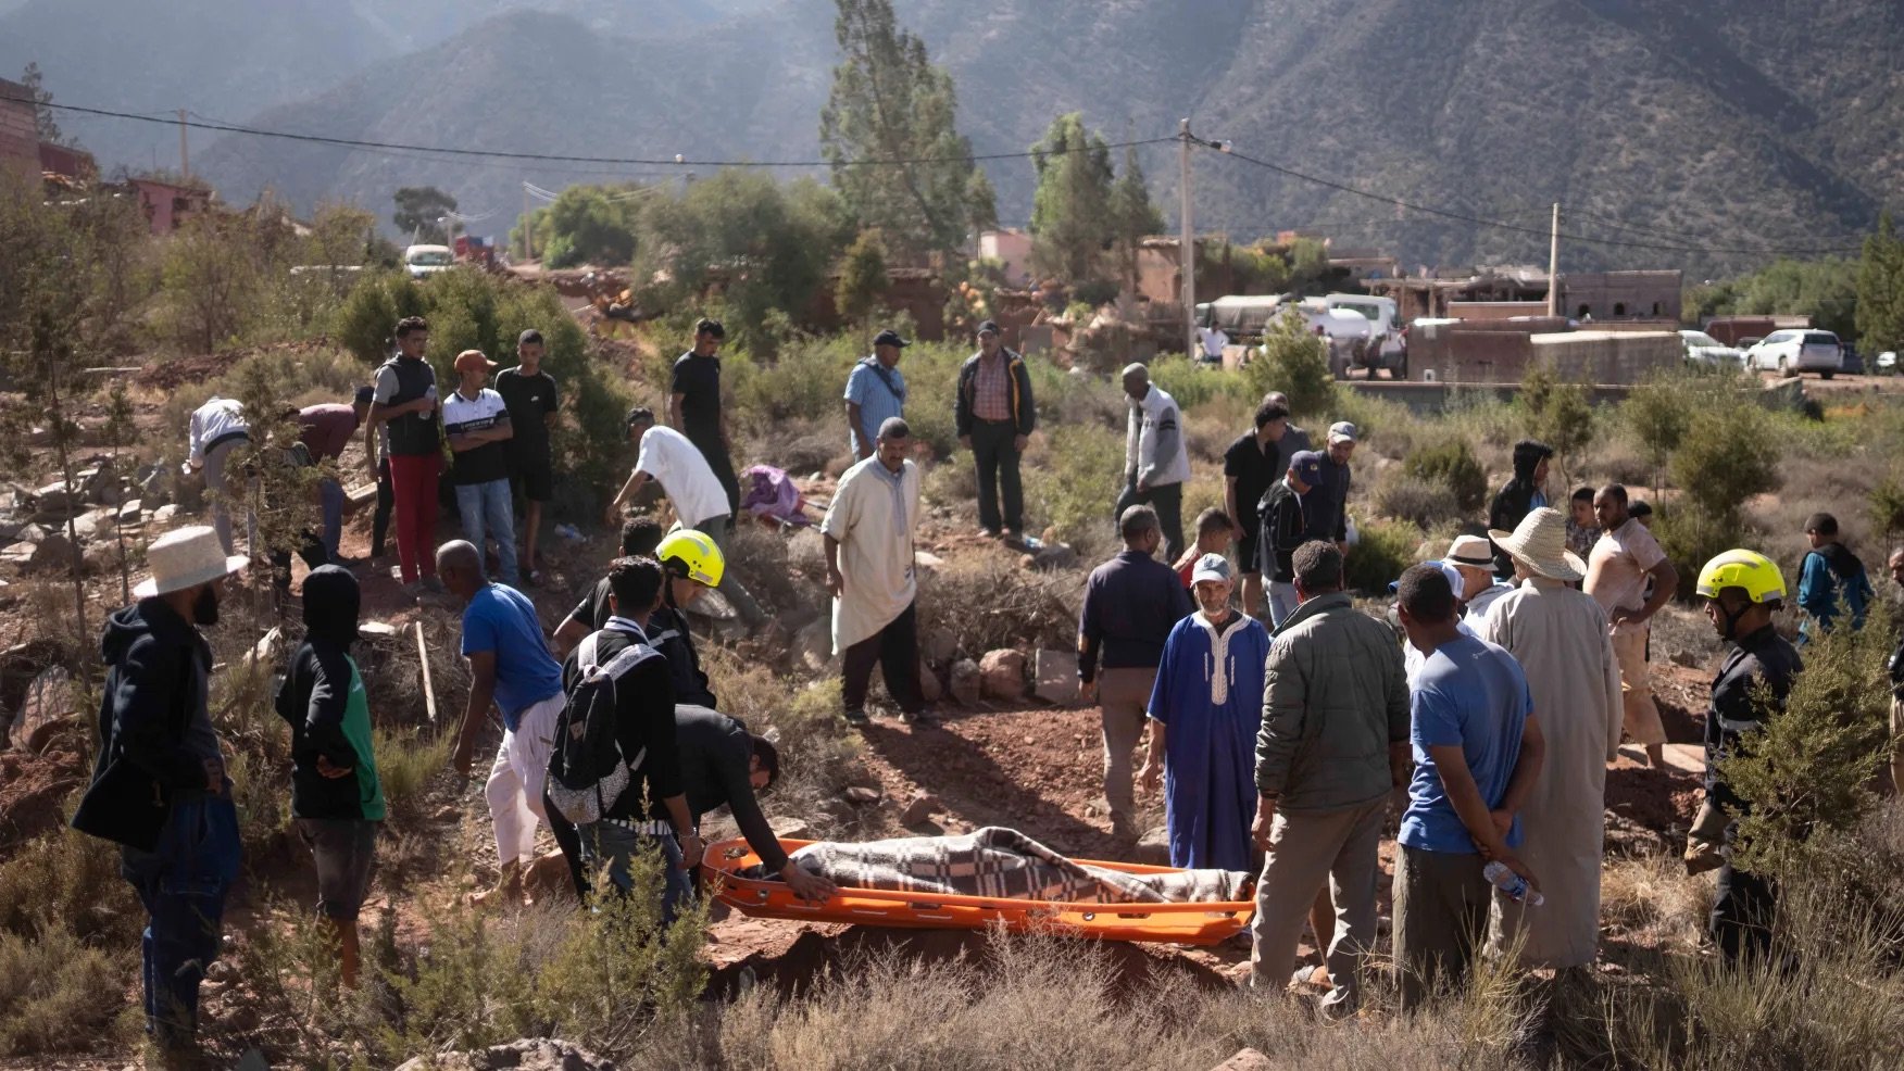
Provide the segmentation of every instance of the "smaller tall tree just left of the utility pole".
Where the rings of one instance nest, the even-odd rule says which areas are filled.
[[[1099,261],[1116,234],[1110,215],[1110,148],[1083,127],[1083,114],[1051,120],[1032,146],[1038,192],[1032,194],[1032,266],[1064,282],[1101,276]]]

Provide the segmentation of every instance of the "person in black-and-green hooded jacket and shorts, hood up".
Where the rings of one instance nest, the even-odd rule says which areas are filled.
[[[385,818],[369,702],[350,658],[358,603],[356,576],[337,565],[305,578],[305,643],[278,689],[278,717],[291,723],[291,818],[318,866],[318,913],[337,934],[347,989],[356,989],[356,919]]]

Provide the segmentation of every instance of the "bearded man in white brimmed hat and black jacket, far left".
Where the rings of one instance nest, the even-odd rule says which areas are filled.
[[[209,527],[147,550],[139,603],[107,618],[99,763],[72,828],[120,845],[120,873],[150,917],[145,1029],[169,1052],[196,1046],[198,983],[219,955],[225,894],[238,877],[238,812],[206,710],[219,586],[246,567]]]

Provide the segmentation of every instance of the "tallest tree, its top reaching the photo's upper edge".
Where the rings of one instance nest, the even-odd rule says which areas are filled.
[[[842,61],[821,110],[834,188],[895,251],[950,253],[996,217],[992,186],[975,181],[971,143],[958,133],[952,76],[899,29],[891,0],[834,2]]]

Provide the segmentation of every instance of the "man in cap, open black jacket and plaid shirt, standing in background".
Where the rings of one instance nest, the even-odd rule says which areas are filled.
[[[979,325],[979,352],[958,369],[958,396],[952,403],[958,441],[979,466],[979,527],[984,535],[1019,538],[1024,535],[1024,491],[1019,483],[1019,455],[1038,426],[1032,403],[1032,373],[1024,358],[1000,341],[998,323]],[[998,512],[1003,485],[1005,512]],[[1003,525],[1003,527],[1002,527]]]

